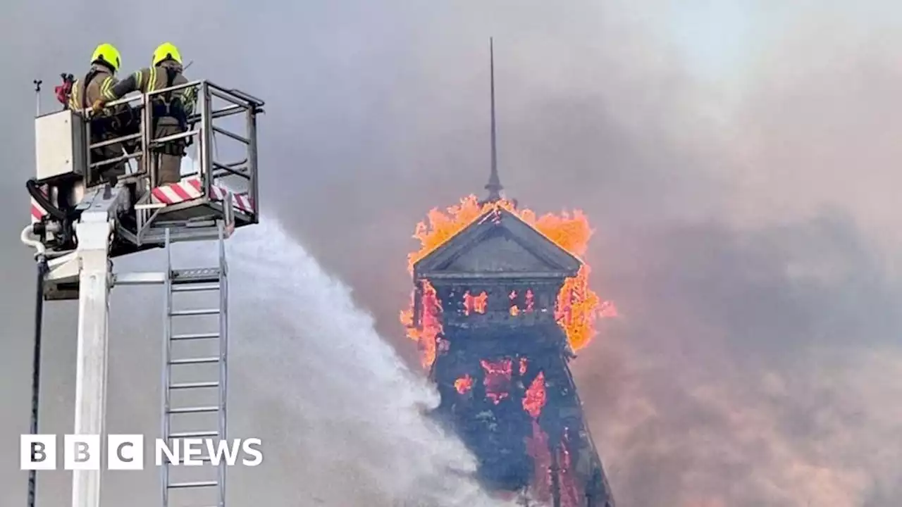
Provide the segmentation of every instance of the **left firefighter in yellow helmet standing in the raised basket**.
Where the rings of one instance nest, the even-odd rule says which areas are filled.
[[[84,78],[77,79],[72,84],[72,93],[69,96],[69,109],[83,114],[87,109],[93,109],[97,100],[110,100],[113,98],[112,89],[117,83],[116,71],[122,65],[119,50],[113,44],[103,43],[97,46],[91,55],[91,69]],[[128,109],[127,107],[125,109]],[[97,110],[94,110],[98,113]],[[102,115],[91,118],[91,143],[100,143],[112,139],[122,130],[123,108],[106,110]],[[91,150],[91,161],[106,161],[123,155],[123,146],[120,143],[107,144],[106,146]],[[122,175],[125,172],[125,161],[109,165],[98,166],[102,176],[110,177]]]

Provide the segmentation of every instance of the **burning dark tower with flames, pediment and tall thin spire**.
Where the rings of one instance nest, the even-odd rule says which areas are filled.
[[[487,199],[430,212],[410,255],[401,314],[450,421],[490,489],[555,507],[612,507],[568,363],[613,307],[589,289],[580,212],[537,217],[502,198],[495,151]]]

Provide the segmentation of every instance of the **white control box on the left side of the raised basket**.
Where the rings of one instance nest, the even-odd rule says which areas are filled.
[[[85,121],[69,109],[34,119],[34,160],[39,181],[85,174]]]

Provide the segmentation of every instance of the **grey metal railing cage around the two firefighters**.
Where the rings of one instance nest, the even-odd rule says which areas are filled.
[[[196,92],[196,105],[194,111],[188,116],[187,129],[178,134],[156,137],[154,132],[153,99],[170,92],[185,93],[188,90]],[[224,106],[215,107],[216,102]],[[160,152],[168,143],[182,142],[195,152],[191,156],[195,161],[196,171],[182,174],[184,180],[189,177],[197,177],[201,181],[203,196],[198,198],[199,204],[211,204],[218,201],[218,205],[226,207],[232,205],[232,198],[223,198],[223,192],[228,190],[232,194],[246,197],[250,204],[250,210],[241,210],[246,220],[256,223],[259,210],[259,181],[257,178],[257,115],[263,112],[263,101],[236,89],[220,87],[207,80],[191,81],[170,88],[154,90],[147,94],[134,97],[124,97],[110,102],[105,107],[106,115],[98,115],[87,121],[87,164],[85,179],[87,185],[94,185],[101,181],[103,171],[115,164],[125,164],[126,167],[134,163],[135,171],[128,172],[118,180],[124,183],[136,183],[138,193],[136,211],[139,230],[150,226],[163,208],[161,203],[153,203],[151,190],[159,181],[159,168],[154,163],[156,157],[147,156],[154,152]],[[244,115],[244,128],[226,128],[225,118]],[[97,121],[116,122],[118,129],[113,129],[118,135],[102,134],[103,139],[96,139],[91,135],[91,124]],[[136,128],[135,128],[136,127]],[[160,126],[157,126],[157,131]],[[219,160],[216,150],[216,140],[223,139],[236,142],[242,146],[240,149],[240,161],[227,162]],[[113,158],[94,160],[97,158],[97,150],[116,146],[123,154]],[[134,161],[134,162],[132,162]],[[238,180],[235,188],[236,180]],[[190,206],[190,205],[189,205]],[[229,212],[232,210],[230,209]],[[223,209],[223,213],[226,210]],[[139,231],[140,232],[140,231]]]

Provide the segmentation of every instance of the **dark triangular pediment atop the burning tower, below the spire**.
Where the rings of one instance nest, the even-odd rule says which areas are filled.
[[[483,214],[434,252],[414,264],[417,279],[566,278],[581,262],[545,235],[498,209]]]

